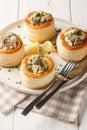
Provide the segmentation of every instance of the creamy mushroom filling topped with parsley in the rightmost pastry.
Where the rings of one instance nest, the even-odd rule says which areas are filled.
[[[72,29],[64,33],[65,42],[67,42],[70,46],[76,46],[82,44],[86,39],[86,35],[80,29]]]

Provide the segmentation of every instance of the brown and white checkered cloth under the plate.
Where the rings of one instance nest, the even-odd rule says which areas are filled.
[[[87,79],[67,91],[57,92],[40,110],[34,109],[33,112],[75,123],[86,93]],[[0,111],[4,114],[8,114],[14,106],[24,109],[34,98],[36,95],[20,93],[0,83]]]

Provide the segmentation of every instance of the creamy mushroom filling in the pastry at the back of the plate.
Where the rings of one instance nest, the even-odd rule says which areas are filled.
[[[43,11],[35,12],[29,18],[32,25],[40,25],[51,20],[51,16]]]

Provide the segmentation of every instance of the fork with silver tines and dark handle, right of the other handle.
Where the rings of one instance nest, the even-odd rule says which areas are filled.
[[[40,109],[59,89],[63,87],[63,85],[70,80],[68,77],[69,73],[76,67],[77,63],[73,62],[67,62],[67,64],[63,67],[59,75],[62,75],[64,78],[62,81],[58,84],[56,83],[56,88],[51,91],[49,94],[47,94],[44,98],[42,98],[37,104],[35,104],[35,107],[37,109]]]

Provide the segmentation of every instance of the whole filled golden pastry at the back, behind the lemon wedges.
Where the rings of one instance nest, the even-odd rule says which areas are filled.
[[[43,11],[29,13],[24,19],[24,28],[31,41],[44,42],[56,35],[53,16]]]

